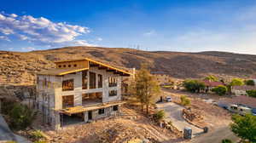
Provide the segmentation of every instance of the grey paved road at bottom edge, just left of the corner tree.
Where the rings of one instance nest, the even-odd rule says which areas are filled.
[[[221,143],[221,140],[224,139],[230,139],[233,141],[238,141],[239,138],[236,137],[235,134],[233,134],[229,127],[223,127],[220,129],[215,129],[212,132],[210,131],[207,134],[201,134],[198,137],[195,137],[194,139],[191,140],[191,143],[206,143],[206,142],[211,142],[211,143]]]

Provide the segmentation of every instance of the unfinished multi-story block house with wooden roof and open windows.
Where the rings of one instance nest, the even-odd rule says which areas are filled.
[[[121,81],[132,74],[88,58],[55,62],[37,73],[37,108],[54,129],[117,115]]]

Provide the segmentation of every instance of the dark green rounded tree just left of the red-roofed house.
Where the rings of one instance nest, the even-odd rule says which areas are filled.
[[[183,87],[190,92],[193,92],[193,93],[198,92],[199,93],[201,89],[206,88],[206,85],[204,83],[202,83],[201,81],[188,79],[183,82]]]

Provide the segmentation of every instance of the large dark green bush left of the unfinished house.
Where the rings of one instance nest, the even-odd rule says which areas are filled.
[[[33,119],[33,112],[27,106],[15,104],[9,112],[10,127],[13,129],[26,129]]]

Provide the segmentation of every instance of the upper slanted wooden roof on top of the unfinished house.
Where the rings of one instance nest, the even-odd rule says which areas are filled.
[[[103,66],[103,67],[106,67],[106,68],[108,68],[108,69],[111,69],[111,70],[114,70],[114,71],[117,71],[117,72],[122,72],[122,73],[124,73],[124,74],[126,74],[126,75],[129,75],[129,76],[132,75],[131,72],[125,71],[125,70],[123,70],[123,69],[120,69],[120,68],[117,68],[117,67],[114,67],[114,66],[110,66],[110,65],[108,65],[108,64],[104,64],[104,63],[102,63],[102,62],[100,62],[100,61],[91,60],[91,59],[89,59],[89,58],[77,59],[77,60],[60,60],[60,61],[55,61],[55,63],[62,63],[62,62],[68,62],[68,61],[82,61],[82,60],[88,60],[88,61],[90,61],[91,63],[94,63],[94,64],[96,64],[96,65],[98,65],[98,66]]]

